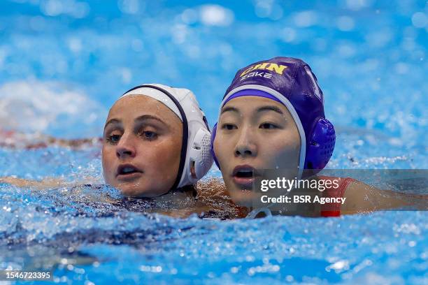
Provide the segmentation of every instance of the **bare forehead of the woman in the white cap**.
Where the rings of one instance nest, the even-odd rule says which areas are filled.
[[[115,102],[108,112],[108,119],[122,117],[140,117],[141,115],[156,115],[161,119],[171,120],[178,116],[166,105],[145,95],[127,95]]]

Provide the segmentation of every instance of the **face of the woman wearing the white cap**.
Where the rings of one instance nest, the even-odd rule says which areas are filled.
[[[128,95],[110,109],[103,140],[106,182],[126,196],[168,192],[180,164],[183,124],[166,105]]]

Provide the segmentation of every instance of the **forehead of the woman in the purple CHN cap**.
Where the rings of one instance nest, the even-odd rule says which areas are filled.
[[[224,104],[222,110],[227,110],[227,108],[234,108],[240,115],[255,115],[260,108],[264,108],[266,106],[276,107],[281,112],[283,112],[283,116],[291,117],[291,114],[285,105],[277,101],[273,101],[270,98],[264,98],[260,96],[241,96],[233,98]],[[273,110],[268,112],[273,112],[280,115],[278,112],[274,112]]]

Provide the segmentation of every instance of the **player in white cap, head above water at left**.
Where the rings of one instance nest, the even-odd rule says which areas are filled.
[[[126,196],[155,197],[185,189],[211,168],[210,136],[190,90],[134,87],[108,113],[104,178]]]

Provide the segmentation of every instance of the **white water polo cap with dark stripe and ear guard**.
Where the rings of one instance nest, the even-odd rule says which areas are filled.
[[[211,132],[194,94],[189,89],[146,84],[130,89],[122,97],[128,95],[145,95],[154,98],[164,103],[183,122],[180,166],[176,182],[171,189],[194,184],[204,177],[213,165]]]

